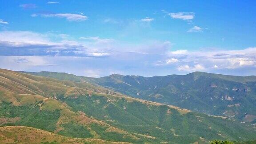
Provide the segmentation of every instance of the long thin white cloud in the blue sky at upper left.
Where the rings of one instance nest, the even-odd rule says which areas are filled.
[[[42,17],[58,17],[65,18],[68,21],[84,21],[88,20],[87,16],[72,14],[72,13],[56,13],[56,14],[32,14],[32,17],[42,16]]]

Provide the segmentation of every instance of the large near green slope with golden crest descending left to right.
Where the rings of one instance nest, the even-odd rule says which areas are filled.
[[[84,82],[0,70],[0,124],[132,143],[255,139],[247,124],[138,100]],[[6,83],[8,82],[8,83]],[[86,83],[87,84],[87,83]],[[91,91],[96,89],[98,92]],[[104,93],[105,92],[105,93]]]

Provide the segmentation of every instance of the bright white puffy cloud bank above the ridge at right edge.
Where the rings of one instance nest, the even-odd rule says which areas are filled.
[[[179,71],[256,67],[256,48],[191,52],[178,50],[168,52],[167,55],[171,60],[179,60],[176,62]]]

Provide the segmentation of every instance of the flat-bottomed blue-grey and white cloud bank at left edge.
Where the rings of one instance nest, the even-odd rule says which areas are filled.
[[[54,34],[50,34],[52,36]],[[68,35],[60,37],[58,42],[52,42],[50,36],[28,31],[0,32],[0,55],[2,56],[110,56],[104,48],[93,47],[82,42],[68,40]]]

